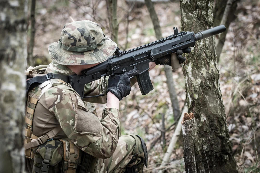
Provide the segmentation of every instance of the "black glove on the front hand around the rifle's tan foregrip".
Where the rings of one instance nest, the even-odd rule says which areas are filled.
[[[191,48],[186,48],[184,50],[177,50],[176,54],[177,54],[177,58],[179,59],[179,63],[183,63],[186,58],[182,56],[183,53],[190,53],[191,52]],[[170,65],[171,66],[171,55],[168,54],[164,57],[158,58],[157,60],[154,61],[156,65],[160,64],[160,65]]]

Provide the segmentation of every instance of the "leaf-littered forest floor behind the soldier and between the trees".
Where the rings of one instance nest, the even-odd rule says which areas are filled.
[[[36,64],[51,61],[48,47],[58,41],[62,27],[74,20],[93,20],[108,31],[106,3],[101,1],[37,1],[34,56]],[[248,5],[249,4],[249,5]],[[155,4],[163,37],[173,34],[173,27],[180,28],[179,2]],[[220,57],[220,88],[226,109],[233,154],[240,172],[260,172],[260,2],[242,1],[238,4],[237,19],[231,23]],[[118,3],[119,44],[128,50],[156,40],[149,12],[144,4]],[[127,20],[128,16],[128,20]],[[127,34],[128,31],[128,34]],[[179,29],[180,31],[180,29]],[[195,31],[196,32],[196,31]],[[30,30],[28,32],[29,36]],[[128,37],[127,37],[128,35]],[[127,43],[127,44],[126,44]],[[131,94],[120,102],[121,135],[139,134],[148,147],[149,167],[145,172],[158,172],[164,152],[175,129],[171,100],[163,66],[150,71],[154,90],[142,95],[138,84]],[[182,68],[173,72],[174,86],[180,108],[186,93]],[[105,105],[95,104],[101,115]],[[161,135],[162,113],[165,114],[166,145]],[[182,138],[178,139],[169,159],[166,172],[185,172]]]

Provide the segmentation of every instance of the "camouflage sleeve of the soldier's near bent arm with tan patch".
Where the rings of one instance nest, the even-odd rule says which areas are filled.
[[[68,87],[52,87],[45,95],[49,111],[55,115],[64,133],[77,147],[97,158],[112,156],[120,134],[119,110],[105,108],[102,119],[99,120]]]

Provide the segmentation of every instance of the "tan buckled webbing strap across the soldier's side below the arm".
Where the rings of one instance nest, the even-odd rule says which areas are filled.
[[[32,147],[39,146],[46,142],[47,140],[51,140],[54,136],[56,136],[62,130],[61,126],[55,127],[54,129],[50,130],[45,135],[38,137],[37,139],[32,139],[31,142],[28,142],[23,145],[24,149],[27,150]]]

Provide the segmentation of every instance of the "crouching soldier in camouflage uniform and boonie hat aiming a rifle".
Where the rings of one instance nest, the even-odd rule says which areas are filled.
[[[89,20],[68,23],[60,40],[49,46],[53,62],[43,74],[80,75],[82,70],[107,60],[116,47],[97,23]],[[151,63],[150,69],[154,66]],[[143,139],[136,135],[119,137],[119,102],[130,93],[136,79],[130,81],[126,74],[114,75],[106,82],[105,96],[83,99],[107,103],[101,120],[90,113],[80,96],[61,79],[51,79],[29,91],[24,145],[28,172],[79,172],[83,162],[89,164],[84,168],[89,172],[130,172],[127,167],[132,169],[134,165],[135,172],[142,172],[144,164],[147,165]],[[103,83],[101,78],[86,84],[85,96],[101,94]],[[82,153],[87,153],[88,159]]]

